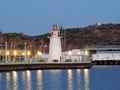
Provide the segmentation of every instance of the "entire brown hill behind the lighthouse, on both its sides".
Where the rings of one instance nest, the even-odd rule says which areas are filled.
[[[84,48],[86,45],[120,45],[120,24],[92,25],[84,28],[60,29],[63,35],[62,46],[65,50]],[[51,32],[51,31],[50,31]],[[0,32],[1,48],[5,48],[5,42],[10,49],[41,50],[48,52],[50,33],[38,36],[24,35],[23,33]],[[63,43],[65,42],[65,43]]]

